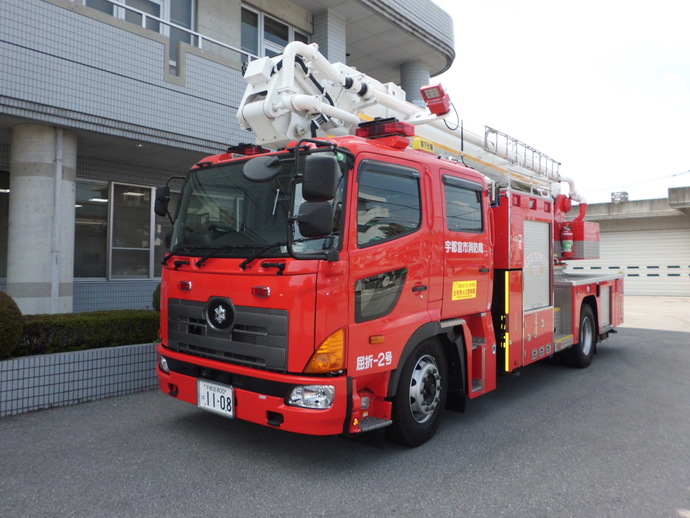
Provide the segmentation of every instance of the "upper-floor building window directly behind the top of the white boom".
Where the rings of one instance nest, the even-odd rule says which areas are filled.
[[[275,18],[242,8],[242,50],[252,56],[277,56],[291,41],[309,43],[309,37]]]

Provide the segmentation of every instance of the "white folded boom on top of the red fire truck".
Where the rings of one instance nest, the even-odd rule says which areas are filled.
[[[568,181],[570,197],[583,201],[572,181],[561,179],[555,160],[493,128],[486,127],[484,137],[451,129],[443,117],[408,103],[399,86],[330,63],[315,43],[292,42],[282,56],[252,61],[244,78],[237,119],[259,145],[281,148],[303,137],[353,135],[360,122],[395,117],[415,125],[436,155],[462,161],[498,186],[556,196],[561,181]]]

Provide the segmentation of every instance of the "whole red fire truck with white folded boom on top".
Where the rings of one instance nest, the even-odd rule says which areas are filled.
[[[587,367],[622,323],[621,275],[567,272],[597,256],[599,231],[555,160],[454,128],[440,86],[415,106],[314,44],[251,62],[245,79],[238,119],[256,144],[192,167],[174,211],[166,394],[416,446],[497,374],[553,356]],[[161,187],[159,215],[169,198]]]

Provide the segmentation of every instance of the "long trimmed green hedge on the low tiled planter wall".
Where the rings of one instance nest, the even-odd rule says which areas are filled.
[[[12,356],[152,343],[158,340],[159,319],[160,313],[149,310],[28,315]]]

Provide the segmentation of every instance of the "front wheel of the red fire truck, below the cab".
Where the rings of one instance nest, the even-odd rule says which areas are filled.
[[[420,343],[407,359],[393,399],[393,424],[387,437],[406,446],[431,439],[439,425],[448,395],[448,363],[438,340]]]

